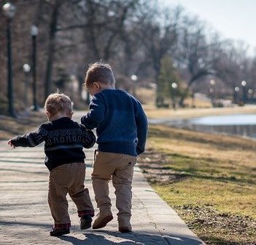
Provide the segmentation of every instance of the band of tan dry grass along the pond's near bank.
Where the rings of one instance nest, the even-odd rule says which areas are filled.
[[[166,126],[151,126],[150,145],[165,153],[186,154],[193,158],[222,161],[238,166],[253,166],[256,162],[256,142],[236,136],[206,134]]]

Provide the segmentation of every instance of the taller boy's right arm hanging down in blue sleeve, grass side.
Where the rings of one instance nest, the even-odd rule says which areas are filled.
[[[146,140],[147,140],[147,116],[143,111],[143,108],[139,102],[137,102],[136,110],[136,126],[137,126],[137,137],[138,143],[136,147],[136,152],[138,156],[144,153]]]

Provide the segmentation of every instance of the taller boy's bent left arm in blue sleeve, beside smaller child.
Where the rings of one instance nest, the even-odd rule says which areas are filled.
[[[90,111],[81,118],[81,124],[85,125],[87,129],[97,128],[104,119],[105,105],[100,95],[93,96],[89,105]]]

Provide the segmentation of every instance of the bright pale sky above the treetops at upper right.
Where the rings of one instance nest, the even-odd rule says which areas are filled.
[[[161,0],[170,7],[181,5],[186,13],[212,25],[224,39],[243,40],[256,48],[256,0]]]

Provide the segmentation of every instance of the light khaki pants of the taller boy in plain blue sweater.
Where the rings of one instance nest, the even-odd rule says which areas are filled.
[[[136,156],[96,151],[93,165],[93,190],[100,212],[111,209],[109,180],[115,188],[118,220],[131,219],[131,183]]]

